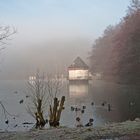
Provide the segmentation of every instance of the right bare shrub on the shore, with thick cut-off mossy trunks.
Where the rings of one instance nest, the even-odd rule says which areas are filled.
[[[47,90],[49,93],[49,124],[52,127],[59,126],[61,112],[64,109],[65,96],[58,99],[58,95],[62,88],[62,80],[59,75],[52,78],[47,77]]]

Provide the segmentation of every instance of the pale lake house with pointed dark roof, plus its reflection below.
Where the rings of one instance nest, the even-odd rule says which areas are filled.
[[[80,57],[68,67],[68,80],[70,98],[83,98],[88,95],[89,68]]]

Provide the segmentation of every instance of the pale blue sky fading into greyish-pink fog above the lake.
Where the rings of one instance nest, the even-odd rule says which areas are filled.
[[[17,28],[0,54],[0,78],[63,71],[83,59],[108,25],[126,14],[130,0],[0,0],[0,24]],[[86,61],[86,60],[85,60]]]

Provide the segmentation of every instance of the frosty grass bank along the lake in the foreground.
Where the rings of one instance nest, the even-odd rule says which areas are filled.
[[[110,123],[101,127],[48,128],[25,132],[0,132],[0,140],[139,140],[140,119]]]

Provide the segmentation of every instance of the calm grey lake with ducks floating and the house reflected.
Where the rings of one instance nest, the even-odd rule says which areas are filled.
[[[83,124],[93,118],[94,126],[140,117],[140,87],[138,86],[120,85],[102,80],[64,81],[59,96],[63,95],[66,96],[66,101],[60,121],[62,126],[75,127],[77,116],[81,118]],[[21,100],[23,103],[19,103]],[[33,124],[23,124],[35,123],[26,110],[28,101],[26,81],[1,80],[0,101],[10,113],[6,113],[5,116],[0,107],[1,131],[26,131],[33,126]],[[5,123],[7,119],[8,124]]]

